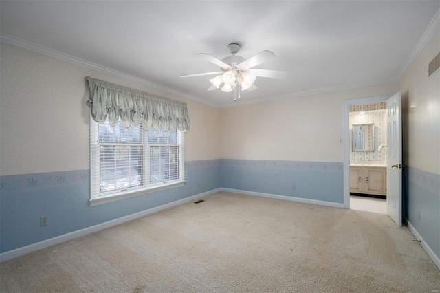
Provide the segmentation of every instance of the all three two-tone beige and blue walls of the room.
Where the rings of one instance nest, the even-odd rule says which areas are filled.
[[[219,187],[342,203],[343,101],[399,90],[397,84],[376,85],[216,109],[20,47],[0,45],[0,252]],[[440,74],[426,78],[426,65],[438,47],[437,32],[401,80],[406,110],[404,164],[409,166],[406,217],[437,256],[440,148],[439,135],[429,133],[440,133]],[[186,186],[88,205],[85,76],[188,102]],[[418,210],[421,220],[417,220]],[[42,215],[49,216],[49,225],[39,226]]]

